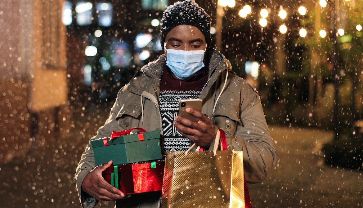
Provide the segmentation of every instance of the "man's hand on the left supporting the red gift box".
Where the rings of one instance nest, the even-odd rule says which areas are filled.
[[[112,165],[112,160],[93,168],[86,175],[82,183],[82,190],[95,197],[98,201],[112,201],[126,199],[131,195],[125,196],[119,189],[107,183],[102,177],[102,172]]]

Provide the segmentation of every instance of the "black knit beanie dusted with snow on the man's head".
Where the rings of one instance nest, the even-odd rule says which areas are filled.
[[[163,13],[160,29],[160,43],[164,49],[165,37],[178,25],[192,25],[205,37],[207,48],[211,45],[211,17],[194,0],[177,1]]]

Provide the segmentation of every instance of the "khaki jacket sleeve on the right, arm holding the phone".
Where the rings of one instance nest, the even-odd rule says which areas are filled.
[[[242,150],[248,183],[265,180],[276,163],[276,152],[269,134],[261,99],[252,86],[244,93],[240,106],[240,123],[236,133],[227,139],[234,150]],[[243,95],[241,95],[242,97]]]

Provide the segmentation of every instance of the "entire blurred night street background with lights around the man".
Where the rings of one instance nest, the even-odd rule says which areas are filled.
[[[0,208],[81,207],[81,154],[119,89],[164,53],[175,1],[0,0]],[[196,2],[276,147],[269,178],[249,184],[254,207],[362,208],[363,1]]]

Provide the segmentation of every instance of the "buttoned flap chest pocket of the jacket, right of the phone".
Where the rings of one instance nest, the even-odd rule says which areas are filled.
[[[217,105],[212,116],[215,125],[222,129],[227,137],[236,134],[237,125],[242,124],[239,117],[239,109],[227,103]]]

